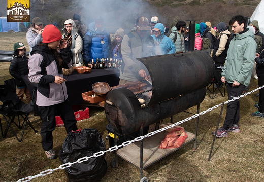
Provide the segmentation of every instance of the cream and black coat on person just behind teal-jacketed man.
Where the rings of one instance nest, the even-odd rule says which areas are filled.
[[[229,45],[226,45],[228,41],[228,36],[230,35],[230,31],[225,30],[219,33],[218,39],[215,42],[214,51],[213,51],[213,60],[215,62],[220,62],[224,64],[225,58],[227,56],[227,49]]]

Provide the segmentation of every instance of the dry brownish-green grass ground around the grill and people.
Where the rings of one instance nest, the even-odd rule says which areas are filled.
[[[20,36],[11,35],[5,47],[0,45],[0,50],[6,50],[8,44],[23,40],[24,34]],[[0,33],[0,42],[5,38]],[[25,42],[23,42],[25,44]],[[9,46],[12,47],[12,46]],[[12,50],[8,49],[8,50]],[[0,63],[1,74],[0,84],[11,78],[8,73],[9,63]],[[257,80],[251,79],[249,90],[257,88]],[[227,100],[225,97],[218,96],[210,99],[206,95],[204,101],[200,105],[200,111],[207,110]],[[241,98],[240,113],[240,133],[228,133],[227,138],[217,139],[215,141],[212,158],[208,161],[213,137],[211,132],[215,130],[220,108],[206,113],[199,118],[199,132],[197,137],[197,148],[193,152],[193,144],[185,145],[185,147],[177,150],[171,155],[152,164],[144,170],[144,176],[149,181],[264,181],[264,119],[251,117],[250,113],[256,109],[253,104],[258,101],[258,97],[253,94]],[[105,126],[108,121],[105,117],[103,108],[89,107],[90,118],[79,121],[79,128],[96,128],[106,138],[107,131]],[[188,112],[195,113],[196,107],[189,108]],[[226,106],[221,118],[223,123],[226,112]],[[173,117],[174,123],[190,117],[191,114],[182,112]],[[30,114],[29,117],[32,125],[40,130],[41,120]],[[2,125],[5,122],[1,116]],[[170,118],[163,123],[170,122]],[[220,124],[220,125],[221,125]],[[195,119],[183,123],[187,131],[195,132]],[[21,132],[18,131],[17,132]],[[63,126],[57,127],[53,132],[54,149],[56,153],[61,149],[62,143],[66,136]],[[109,142],[106,141],[106,148],[109,148]],[[125,160],[120,160],[118,168],[110,166],[114,159],[113,153],[106,154],[108,170],[102,181],[140,181],[140,170]],[[48,160],[45,157],[41,147],[41,136],[38,132],[35,134],[29,127],[26,128],[23,141],[18,142],[9,131],[6,138],[0,138],[0,181],[17,181],[20,178],[34,176],[41,171],[47,169],[55,169],[61,165],[59,159]],[[44,177],[38,177],[32,181],[66,181],[63,170],[56,170],[52,174]]]

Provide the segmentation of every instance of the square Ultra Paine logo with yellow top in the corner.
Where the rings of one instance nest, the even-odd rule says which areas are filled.
[[[7,22],[30,22],[30,0],[7,0]]]

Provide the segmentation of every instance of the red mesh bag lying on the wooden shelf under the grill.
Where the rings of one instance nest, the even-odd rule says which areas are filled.
[[[183,128],[175,128],[166,134],[165,138],[159,144],[159,148],[178,148],[182,145],[187,137],[188,135],[183,131]]]

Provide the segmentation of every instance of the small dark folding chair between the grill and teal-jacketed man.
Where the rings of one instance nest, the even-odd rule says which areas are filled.
[[[223,92],[221,91],[222,87],[224,87]],[[221,94],[222,97],[224,97],[225,96],[225,89],[226,89],[225,83],[222,83],[219,85],[214,80],[209,85],[206,86],[206,92],[211,99],[214,99],[218,93]]]

